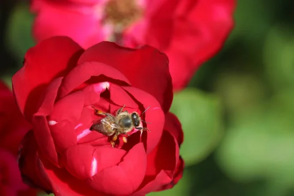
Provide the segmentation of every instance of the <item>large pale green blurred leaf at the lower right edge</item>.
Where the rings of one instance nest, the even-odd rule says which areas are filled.
[[[293,100],[293,93],[283,92],[231,124],[217,151],[218,162],[229,176],[294,186]]]

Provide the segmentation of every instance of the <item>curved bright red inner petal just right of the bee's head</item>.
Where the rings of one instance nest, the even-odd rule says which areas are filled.
[[[123,87],[127,92],[129,92],[134,98],[140,101],[145,108],[151,106],[145,113],[145,121],[149,122],[147,128],[150,129],[150,132],[144,131],[143,141],[147,141],[146,153],[148,154],[159,142],[163,126],[164,126],[164,113],[160,107],[158,101],[151,96],[150,94],[142,91],[141,89],[133,87]],[[147,135],[147,140],[146,140]],[[144,139],[145,138],[145,139]],[[137,140],[138,141],[138,140]],[[131,144],[131,141],[130,141]]]

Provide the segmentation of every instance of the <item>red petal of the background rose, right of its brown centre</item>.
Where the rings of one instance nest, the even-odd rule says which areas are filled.
[[[233,28],[234,0],[182,1],[166,52],[173,88],[185,87],[199,66],[223,46]],[[153,31],[153,29],[150,29]]]

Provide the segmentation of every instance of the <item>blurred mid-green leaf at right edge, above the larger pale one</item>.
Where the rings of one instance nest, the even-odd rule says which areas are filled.
[[[273,27],[264,46],[264,62],[270,82],[280,89],[294,87],[294,34],[285,26]]]

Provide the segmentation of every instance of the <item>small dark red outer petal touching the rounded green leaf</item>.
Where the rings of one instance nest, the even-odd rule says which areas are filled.
[[[164,124],[164,130],[169,131],[173,137],[176,138],[179,145],[183,143],[184,140],[184,133],[182,130],[182,125],[177,119],[177,117],[172,114],[171,112],[167,113],[165,115],[165,124]]]

